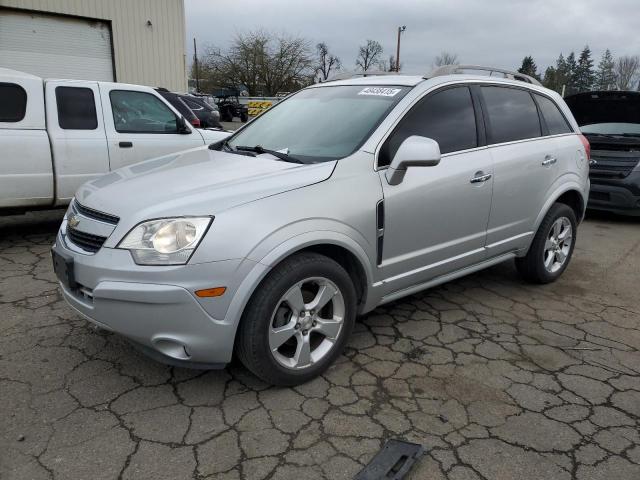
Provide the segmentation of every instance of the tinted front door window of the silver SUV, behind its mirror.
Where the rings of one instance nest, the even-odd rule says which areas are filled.
[[[448,88],[421,100],[383,145],[378,165],[389,165],[400,144],[411,135],[434,139],[441,153],[477,147],[476,119],[469,89]]]

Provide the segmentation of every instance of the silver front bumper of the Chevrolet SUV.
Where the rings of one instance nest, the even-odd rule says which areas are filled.
[[[60,282],[62,293],[87,320],[127,337],[165,363],[217,368],[231,360],[241,315],[237,305],[245,303],[234,302],[234,297],[255,262],[149,267],[136,265],[126,250],[103,247],[84,255],[65,241],[58,234],[53,250],[72,257],[76,285]],[[217,286],[227,288],[224,295],[194,294]]]

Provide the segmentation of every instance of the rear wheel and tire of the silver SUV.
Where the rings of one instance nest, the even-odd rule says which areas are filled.
[[[573,255],[577,223],[575,212],[568,205],[556,203],[549,209],[527,255],[516,258],[516,268],[526,281],[551,283],[562,275]],[[560,230],[554,230],[558,226]],[[570,230],[566,235],[566,227],[569,226]]]

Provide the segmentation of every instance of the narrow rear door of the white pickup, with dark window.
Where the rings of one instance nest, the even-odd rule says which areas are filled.
[[[63,204],[80,185],[109,171],[98,83],[47,81],[45,100],[56,203]]]

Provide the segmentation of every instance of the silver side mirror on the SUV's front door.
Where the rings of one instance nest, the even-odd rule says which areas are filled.
[[[440,163],[440,145],[427,137],[413,135],[400,144],[386,177],[389,185],[402,183],[408,167],[435,167]]]

